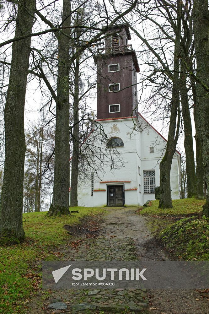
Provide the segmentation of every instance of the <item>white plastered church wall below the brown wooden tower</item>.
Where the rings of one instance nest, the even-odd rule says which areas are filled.
[[[135,122],[137,122],[137,119],[135,119]],[[154,193],[144,193],[143,171],[155,170],[155,182],[156,186],[159,186],[159,162],[163,156],[166,141],[144,121],[141,123],[141,132],[139,128],[133,131],[132,119],[110,120],[99,123],[102,124],[108,138],[116,136],[123,140],[124,147],[118,147],[116,151],[116,155],[122,160],[123,166],[116,165],[115,168],[110,169],[109,165],[105,165],[104,160],[103,169],[98,169],[98,176],[94,174],[95,191],[93,196],[91,196],[91,181],[86,179],[85,182],[80,183],[78,206],[105,206],[107,204],[108,185],[124,184],[126,206],[143,205],[147,200],[154,200]],[[96,130],[95,128],[94,132],[98,132]],[[99,136],[96,138],[99,141]],[[96,145],[97,143],[95,143]],[[154,147],[153,153],[150,153],[150,147]],[[103,149],[108,153],[106,143],[103,144]],[[178,154],[175,155],[171,167],[172,198],[179,198],[179,157]],[[106,160],[108,160],[107,156]],[[101,189],[105,191],[100,191]]]

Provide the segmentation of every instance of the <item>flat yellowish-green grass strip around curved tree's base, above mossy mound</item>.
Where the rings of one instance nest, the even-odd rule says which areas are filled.
[[[143,208],[140,215],[151,216],[187,216],[187,215],[200,215],[202,212],[202,205],[205,200],[197,200],[195,198],[174,199],[172,200],[173,208],[158,208],[159,201],[151,202],[151,206]]]

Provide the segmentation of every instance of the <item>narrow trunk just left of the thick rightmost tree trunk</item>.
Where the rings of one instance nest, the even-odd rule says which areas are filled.
[[[194,136],[196,142],[196,198],[203,199],[204,198],[204,172],[202,166],[202,148],[200,143],[200,135],[199,135],[199,128],[197,123],[197,106],[198,106],[198,97],[196,96],[196,84],[194,80],[192,80],[192,94],[193,94],[193,101],[194,101],[194,121],[195,121],[195,129],[196,134]]]

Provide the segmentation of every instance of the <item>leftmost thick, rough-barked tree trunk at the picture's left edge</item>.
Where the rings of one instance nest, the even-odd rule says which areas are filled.
[[[31,34],[34,0],[18,2],[15,37]],[[22,224],[25,158],[24,104],[31,38],[13,42],[9,85],[4,110],[5,162],[0,205],[1,241],[24,240]]]

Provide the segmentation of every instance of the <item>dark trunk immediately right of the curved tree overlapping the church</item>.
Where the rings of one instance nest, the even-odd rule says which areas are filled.
[[[192,137],[192,125],[189,109],[188,94],[186,88],[186,68],[184,64],[181,64],[181,106],[184,122],[184,148],[186,155],[186,174],[187,174],[187,197],[196,196],[196,172],[195,172],[195,156],[193,149],[193,137]]]

